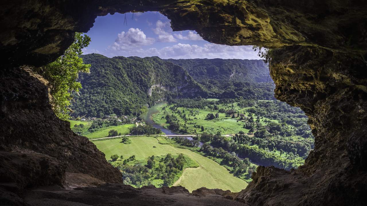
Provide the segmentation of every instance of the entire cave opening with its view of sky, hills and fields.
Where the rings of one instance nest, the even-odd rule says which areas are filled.
[[[314,148],[314,137],[307,125],[308,117],[299,108],[274,98],[275,85],[269,75],[269,65],[262,62],[261,53],[254,51],[251,45],[218,45],[204,41],[195,31],[174,32],[170,20],[159,12],[97,17],[86,35],[91,38],[91,43],[82,49],[82,58],[84,63],[92,66],[89,74],[82,73],[77,80],[82,88],[74,93],[69,106],[72,111],[70,127],[78,135],[88,137],[106,155],[108,162],[123,173],[125,184],[134,187],[181,185],[190,192],[201,187],[239,192],[252,180],[252,172],[258,165],[273,165],[286,170],[298,168]],[[124,66],[114,66],[116,62],[113,61]],[[187,89],[179,91],[181,95],[172,93],[172,87],[168,85],[172,83],[162,76],[174,78],[170,73],[177,68],[165,64],[168,68],[165,70],[159,66],[164,62],[171,62],[179,66],[179,70],[187,71],[188,77],[205,87],[207,93],[188,92]],[[153,70],[150,64],[155,67]],[[146,81],[146,77],[154,81]],[[221,81],[220,78],[226,80]],[[179,81],[175,78],[172,82]],[[122,85],[145,88],[140,91],[135,87],[116,86],[120,82]],[[181,84],[177,87],[182,87]],[[218,87],[221,84],[224,86]],[[126,91],[135,91],[136,95]],[[115,96],[107,96],[106,93]],[[137,97],[139,95],[148,98]],[[191,105],[192,102],[182,104],[180,100],[189,98],[197,102],[199,96],[204,99],[201,103],[206,106],[203,108]],[[177,108],[167,108],[170,106]],[[223,111],[219,112],[220,109]],[[200,115],[215,111],[218,117],[214,121],[201,121],[199,112],[196,114],[194,110],[200,111]],[[229,115],[230,110],[235,111],[235,117]],[[168,113],[178,117],[178,129],[172,130],[170,124],[160,120]],[[206,119],[205,115],[201,118]],[[163,159],[168,151],[172,152],[172,148],[164,148],[167,151],[162,153],[162,145],[155,144],[155,141],[161,143],[164,139],[151,141],[149,137],[123,137],[125,139],[121,143],[128,141],[131,144],[132,140],[132,145],[136,142],[137,146],[147,151],[154,145],[156,149],[153,150],[156,151],[146,152],[145,156],[134,151],[137,149],[130,144],[116,144],[120,140],[115,136],[146,134],[130,133],[128,127],[148,123],[161,129],[165,135],[193,135],[185,137],[188,139],[174,137],[171,140],[176,146],[188,147],[192,153],[208,157],[207,165],[203,166],[205,162],[199,160],[199,167],[194,165],[180,172],[182,178],[180,174],[170,178],[170,172],[152,166],[152,163],[164,163],[159,161],[160,158]],[[219,139],[212,136],[209,151],[203,148],[204,138],[194,137],[201,135],[200,129],[197,129],[201,124],[206,127],[205,134],[215,135],[219,131],[224,136]],[[230,161],[230,156],[226,157],[221,150],[237,159]],[[179,153],[173,154],[177,156]],[[136,159],[129,158],[132,155]],[[189,152],[185,155],[193,154]],[[192,160],[198,161],[195,158]],[[206,180],[203,176],[207,177]]]

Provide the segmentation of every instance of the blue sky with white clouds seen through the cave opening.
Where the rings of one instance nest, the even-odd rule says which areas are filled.
[[[162,59],[259,59],[252,46],[227,46],[204,41],[195,31],[172,32],[170,20],[159,12],[98,16],[87,32],[91,43],[84,54],[159,56]]]

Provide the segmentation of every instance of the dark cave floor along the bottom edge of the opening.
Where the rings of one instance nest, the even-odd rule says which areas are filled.
[[[190,194],[183,187],[153,186],[140,189],[123,184],[105,184],[98,187],[65,189],[59,186],[39,187],[26,191],[24,201],[32,206],[76,205],[139,205],[139,206],[244,206],[232,197],[214,194],[213,190],[201,190]]]

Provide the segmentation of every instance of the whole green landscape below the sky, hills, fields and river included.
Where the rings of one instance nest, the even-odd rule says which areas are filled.
[[[258,165],[298,168],[314,147],[306,115],[274,99],[262,60],[82,57],[92,66],[70,127],[125,184],[240,191]]]

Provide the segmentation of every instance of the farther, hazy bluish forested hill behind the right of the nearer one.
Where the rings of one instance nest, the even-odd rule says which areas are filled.
[[[182,66],[212,98],[274,99],[275,85],[263,60],[166,59]],[[269,78],[269,79],[268,79]]]

